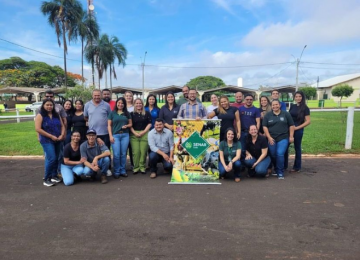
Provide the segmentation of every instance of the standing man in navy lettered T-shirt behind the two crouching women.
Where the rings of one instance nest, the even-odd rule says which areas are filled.
[[[249,134],[251,125],[256,125],[260,128],[260,110],[253,105],[254,98],[251,94],[245,95],[244,105],[239,107],[240,122],[241,122],[241,160],[245,159],[246,155],[246,138]]]

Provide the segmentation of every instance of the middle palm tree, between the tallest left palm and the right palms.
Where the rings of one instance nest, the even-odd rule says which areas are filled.
[[[96,21],[94,15],[88,15],[86,11],[82,11],[81,20],[77,24],[76,30],[81,39],[81,76],[84,78],[84,48],[91,45],[96,39],[99,38],[99,24]],[[86,42],[85,46],[84,43]],[[94,79],[94,60],[91,62],[92,65],[92,81],[95,85]]]

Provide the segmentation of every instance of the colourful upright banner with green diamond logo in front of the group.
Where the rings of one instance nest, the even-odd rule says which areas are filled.
[[[174,167],[169,184],[221,184],[221,120],[174,120]]]

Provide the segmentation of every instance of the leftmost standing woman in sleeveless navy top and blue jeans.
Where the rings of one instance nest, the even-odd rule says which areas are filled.
[[[55,103],[45,99],[35,117],[35,130],[45,153],[45,177],[43,184],[53,186],[61,180],[57,177],[58,158],[62,141],[65,138],[65,127],[55,111]]]

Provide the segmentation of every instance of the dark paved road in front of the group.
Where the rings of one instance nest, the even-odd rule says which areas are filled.
[[[304,165],[284,181],[48,188],[41,159],[0,159],[0,259],[360,259],[359,159]]]

